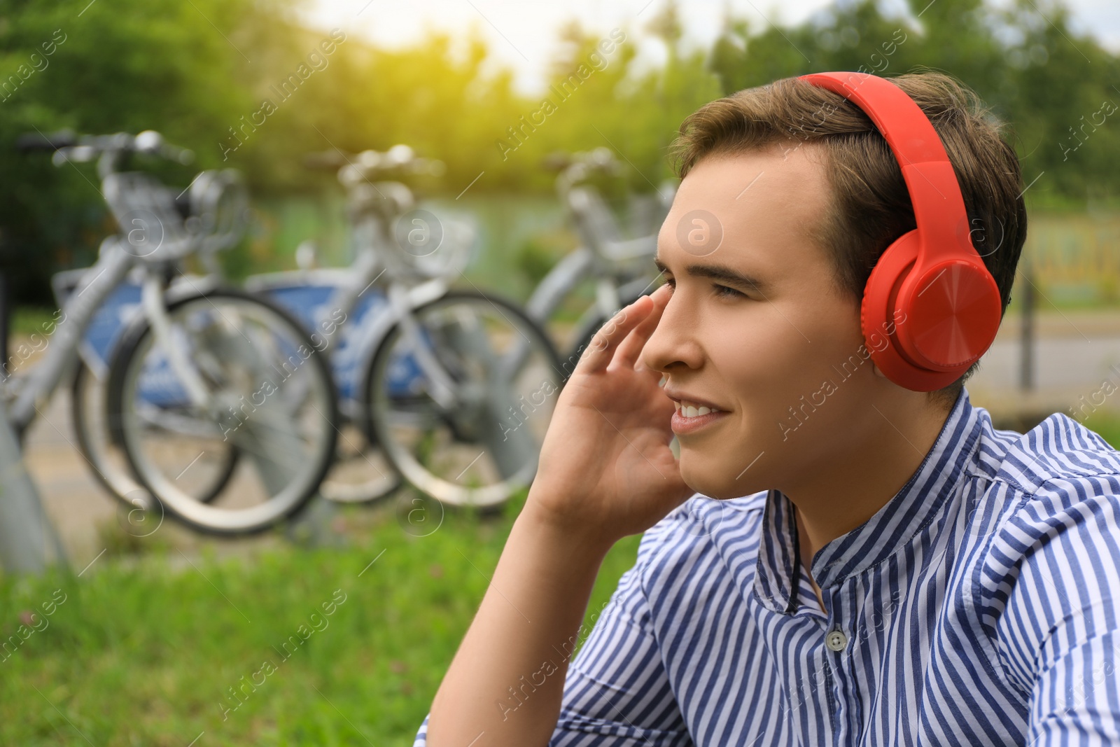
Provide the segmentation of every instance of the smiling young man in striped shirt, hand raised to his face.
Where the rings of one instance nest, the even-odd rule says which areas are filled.
[[[952,78],[889,81],[944,144],[1001,315],[1016,156]],[[679,144],[666,282],[562,391],[416,744],[1120,741],[1120,455],[1064,414],[995,430],[974,365],[935,391],[880,370],[860,299],[915,213],[859,106],[777,81]],[[569,665],[605,553],[643,531]]]

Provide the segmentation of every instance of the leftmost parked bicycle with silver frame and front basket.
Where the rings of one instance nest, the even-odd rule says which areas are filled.
[[[56,166],[96,159],[121,233],[102,242],[93,267],[56,277],[62,319],[37,375],[4,381],[17,431],[73,373],[78,448],[146,520],[158,510],[161,521],[166,508],[196,530],[234,534],[300,511],[334,452],[337,396],[324,357],[299,356],[290,383],[251,412],[242,408],[251,418],[236,417],[245,394],[260,391],[255,382],[314,344],[282,307],[226,288],[213,272],[214,253],[243,231],[235,172],[203,171],[177,197],[148,174],[120,170],[137,156],[188,160],[150,130],[28,136],[19,146],[54,151]],[[183,272],[192,255],[212,273]],[[226,492],[231,485],[239,489]]]

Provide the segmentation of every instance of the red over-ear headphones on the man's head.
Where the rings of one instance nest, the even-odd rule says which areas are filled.
[[[917,228],[887,246],[864,288],[860,325],[871,358],[899,386],[948,386],[991,345],[1002,305],[972,245],[964,198],[941,139],[922,109],[886,78],[846,72],[799,80],[840,94],[871,118],[898,160],[914,206]],[[887,344],[872,345],[872,336]]]

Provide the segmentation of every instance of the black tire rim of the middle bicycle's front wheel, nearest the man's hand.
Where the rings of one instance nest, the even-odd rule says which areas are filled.
[[[493,307],[506,321],[511,318],[516,319],[516,324],[521,327],[521,332],[526,336],[525,338],[530,339],[530,344],[534,345],[535,349],[544,356],[542,363],[548,364],[549,375],[554,374],[554,391],[559,392],[560,355],[557,352],[556,346],[541,325],[529,317],[520,306],[513,304],[512,301],[492,293],[452,290],[448,291],[438,299],[418,306],[413,309],[413,316],[416,318],[422,318],[426,312],[433,309],[438,310],[439,307],[450,307],[455,304],[463,302],[478,305],[480,307]],[[395,323],[389,328],[385,336],[381,339],[375,353],[370,360],[370,363],[366,365],[358,392],[362,398],[362,412],[365,421],[364,424],[367,429],[370,429],[371,440],[381,445],[390,461],[393,463],[404,479],[421,493],[431,495],[442,503],[450,505],[473,505],[484,510],[506,502],[516,489],[531,484],[536,470],[535,457],[532,460],[531,470],[528,463],[523,466],[523,476],[519,477],[515,475],[516,479],[507,478],[497,483],[496,486],[488,485],[484,488],[476,489],[450,483],[441,476],[432,474],[424,468],[423,465],[419,464],[416,457],[408,449],[400,446],[392,431],[393,423],[383,411],[385,399],[384,396],[379,395],[379,392],[384,391],[384,385],[388,382],[386,376],[390,358],[393,355],[394,344],[400,336],[401,325],[400,323]],[[405,398],[400,398],[402,401]],[[445,423],[454,421],[454,418],[445,417],[442,414],[439,417],[445,421]],[[448,424],[449,429],[452,430],[454,433],[454,424]],[[535,456],[539,457],[539,442],[535,445]],[[470,465],[468,465],[468,467]]]

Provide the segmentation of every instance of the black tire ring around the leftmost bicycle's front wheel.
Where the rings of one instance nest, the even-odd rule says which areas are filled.
[[[147,353],[147,349],[150,349],[153,342],[151,327],[146,317],[138,319],[125,332],[114,352],[109,377],[109,420],[113,438],[123,445],[124,454],[133,476],[162,504],[168,514],[192,529],[208,534],[254,534],[269,529],[280,521],[298,515],[307,507],[311,496],[318,491],[319,484],[323,482],[335,457],[339,423],[338,394],[327,355],[316,349],[310,334],[283,307],[255,293],[233,288],[220,288],[207,290],[206,292],[186,295],[168,302],[168,315],[175,315],[187,305],[197,305],[199,308],[205,309],[206,305],[203,305],[202,300],[205,300],[206,305],[217,309],[218,314],[223,317],[225,315],[222,314],[215,301],[226,300],[234,304],[242,304],[246,308],[256,309],[258,312],[262,312],[265,316],[271,315],[273,323],[283,327],[293,340],[298,340],[300,345],[306,346],[310,351],[305,363],[310,364],[307,371],[314,377],[314,385],[323,394],[324,410],[320,410],[318,407],[315,409],[326,421],[326,427],[323,429],[325,436],[317,442],[314,456],[307,464],[297,467],[301,468],[302,478],[289,484],[287,488],[281,491],[279,495],[282,496],[282,499],[277,499],[277,496],[272,496],[264,504],[260,504],[265,506],[271,504],[271,507],[268,510],[248,508],[242,511],[226,511],[207,503],[200,503],[189,496],[184,497],[179,495],[179,492],[169,486],[162,476],[153,474],[153,470],[149,466],[146,466],[147,458],[141,452],[139,442],[142,439],[137,435],[136,423],[130,421],[127,414],[127,410],[130,407],[129,402],[132,401],[129,399],[130,391],[138,391],[138,366],[143,363],[142,360],[140,363],[137,363],[137,356]],[[270,327],[271,329],[272,327]],[[221,428],[221,424],[217,427]],[[242,455],[242,457],[244,456]],[[286,491],[288,492],[286,493]]]

